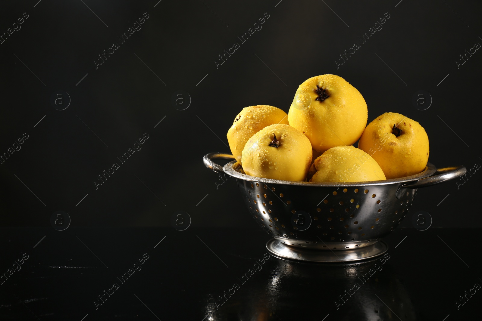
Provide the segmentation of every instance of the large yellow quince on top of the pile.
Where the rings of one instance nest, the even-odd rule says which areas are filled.
[[[303,82],[288,112],[289,124],[303,132],[313,149],[321,153],[358,141],[367,119],[368,108],[362,94],[335,75]]]

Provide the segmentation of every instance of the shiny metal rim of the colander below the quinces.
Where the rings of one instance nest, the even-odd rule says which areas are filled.
[[[223,171],[229,176],[234,177],[236,179],[248,180],[248,181],[253,181],[253,182],[258,182],[263,184],[280,184],[280,185],[313,186],[313,187],[339,187],[339,186],[356,187],[356,186],[403,184],[403,183],[414,182],[420,179],[430,177],[433,174],[435,174],[435,172],[437,171],[437,167],[435,167],[432,163],[427,163],[427,166],[422,172],[415,175],[401,177],[397,179],[373,180],[373,181],[349,182],[349,183],[338,183],[338,182],[315,183],[315,182],[309,182],[309,181],[273,180],[273,179],[266,179],[262,177],[249,176],[246,174],[242,174],[238,172],[236,169],[234,169],[235,164],[239,164],[239,163],[236,160],[233,160],[227,163],[223,167]]]

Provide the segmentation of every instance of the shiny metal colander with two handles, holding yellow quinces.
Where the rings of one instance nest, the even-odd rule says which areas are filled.
[[[241,197],[258,224],[273,236],[268,250],[279,257],[318,262],[355,261],[388,250],[380,238],[400,224],[419,187],[453,180],[463,166],[437,169],[428,163],[419,174],[400,179],[313,183],[271,180],[244,174],[236,161],[224,167],[206,154],[206,167],[236,178]]]

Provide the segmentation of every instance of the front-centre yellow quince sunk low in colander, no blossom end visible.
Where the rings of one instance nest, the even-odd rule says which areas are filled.
[[[321,154],[309,169],[311,182],[360,182],[385,180],[385,175],[369,154],[353,146],[335,146]]]

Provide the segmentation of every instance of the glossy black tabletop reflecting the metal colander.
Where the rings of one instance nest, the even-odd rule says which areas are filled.
[[[482,298],[479,259],[464,247],[473,235],[400,228],[375,260],[308,264],[268,255],[258,229],[2,229],[1,272],[17,271],[2,279],[0,316],[464,320]]]

